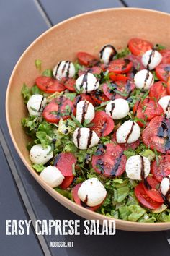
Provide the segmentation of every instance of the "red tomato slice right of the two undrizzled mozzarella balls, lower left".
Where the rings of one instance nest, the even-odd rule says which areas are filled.
[[[54,165],[63,176],[73,176],[73,164],[75,163],[76,157],[72,153],[60,153],[54,160]]]

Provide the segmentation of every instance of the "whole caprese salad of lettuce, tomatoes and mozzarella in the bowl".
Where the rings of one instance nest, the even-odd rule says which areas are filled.
[[[22,95],[40,179],[104,216],[170,221],[170,50],[132,38],[98,57],[81,51]]]

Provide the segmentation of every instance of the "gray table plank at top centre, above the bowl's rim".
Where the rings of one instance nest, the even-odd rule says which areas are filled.
[[[81,14],[83,12],[90,12],[95,9],[123,7],[119,0],[40,0],[40,3],[53,24],[66,20],[74,15]]]

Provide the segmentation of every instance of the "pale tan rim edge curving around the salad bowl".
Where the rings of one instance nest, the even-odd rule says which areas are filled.
[[[22,159],[22,162],[24,163],[24,165],[27,167],[27,169],[30,171],[30,173],[32,174],[32,176],[35,177],[35,179],[37,181],[40,181],[40,184],[42,184],[42,187],[46,187],[47,190],[51,196],[53,196],[53,191],[54,189],[51,188],[48,184],[46,184],[45,182],[42,181],[42,179],[40,179],[39,176],[37,176],[35,170],[27,163],[27,161],[25,161],[22,152],[19,150],[16,140],[14,139],[14,135],[12,133],[12,127],[9,121],[9,89],[11,87],[11,83],[12,83],[12,79],[14,77],[15,71],[19,65],[19,62],[21,61],[21,59],[24,58],[25,54],[27,54],[27,51],[30,50],[30,48],[32,48],[32,46],[34,46],[38,40],[40,40],[41,38],[43,38],[46,34],[48,34],[51,30],[55,30],[55,27],[61,26],[63,24],[66,24],[68,22],[70,22],[71,20],[76,20],[79,19],[79,17],[84,17],[84,16],[89,16],[91,14],[95,14],[97,12],[108,12],[108,11],[114,11],[114,12],[129,12],[129,10],[134,10],[134,11],[139,11],[139,12],[153,12],[153,13],[158,13],[158,14],[164,14],[166,16],[170,16],[170,14],[166,13],[166,12],[160,12],[160,11],[156,11],[156,10],[152,10],[152,9],[144,9],[144,8],[126,8],[126,7],[118,7],[118,8],[107,8],[107,9],[97,9],[91,12],[85,12],[83,14],[78,14],[76,16],[73,16],[71,18],[68,18],[67,20],[63,20],[62,22],[59,22],[58,24],[54,25],[53,27],[50,27],[48,30],[46,30],[44,33],[42,33],[40,36],[38,36],[31,44],[30,46],[27,47],[27,49],[24,51],[24,53],[19,57],[19,60],[17,61],[17,64],[15,64],[14,69],[12,71],[11,77],[9,79],[9,83],[7,86],[7,90],[6,90],[6,122],[7,122],[7,126],[9,129],[9,134],[12,138],[12,142],[14,144],[14,148],[17,150],[17,153],[19,154],[19,157]],[[83,213],[87,213],[87,215],[89,215],[89,210],[86,208],[81,207],[80,205],[76,205],[75,202],[69,200],[68,198],[64,197],[63,195],[61,195],[59,192],[55,191],[58,195],[58,199],[60,199],[60,201],[63,201],[63,203],[61,203],[62,205],[64,204],[64,202],[66,202],[70,208],[72,209],[76,209],[79,210],[79,212],[83,212]],[[96,213],[91,211],[90,213],[91,219],[107,219],[107,220],[111,220],[114,218],[109,218],[107,216],[104,216],[102,214]],[[135,222],[135,221],[124,221],[121,219],[115,219],[116,223],[121,224],[123,226],[123,224],[130,224],[130,226],[133,228],[135,226],[138,226],[139,231],[140,231],[140,227],[141,228],[147,228],[149,226],[160,226],[162,227],[162,229],[170,229],[170,223],[169,222],[156,222],[156,223],[140,223],[140,222]]]

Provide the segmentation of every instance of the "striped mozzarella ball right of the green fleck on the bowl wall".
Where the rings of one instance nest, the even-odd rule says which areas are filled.
[[[53,77],[61,80],[63,77],[71,78],[75,75],[76,70],[71,61],[60,61],[53,69]]]

